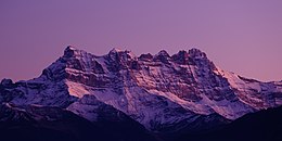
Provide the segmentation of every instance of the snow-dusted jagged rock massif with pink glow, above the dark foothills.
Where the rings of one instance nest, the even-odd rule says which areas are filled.
[[[116,116],[126,114],[151,131],[164,132],[282,105],[282,82],[222,70],[197,49],[140,56],[113,49],[97,56],[67,47],[38,78],[3,80],[0,102],[56,106],[91,121],[111,106]]]

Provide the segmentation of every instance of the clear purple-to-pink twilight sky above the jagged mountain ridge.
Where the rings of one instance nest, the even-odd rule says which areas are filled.
[[[72,44],[170,54],[196,47],[219,67],[282,80],[282,0],[0,0],[0,79],[30,79]]]

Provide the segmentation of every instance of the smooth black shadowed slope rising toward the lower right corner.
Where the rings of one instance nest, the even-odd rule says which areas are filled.
[[[282,141],[282,107],[247,114],[221,129],[187,133],[177,141]]]

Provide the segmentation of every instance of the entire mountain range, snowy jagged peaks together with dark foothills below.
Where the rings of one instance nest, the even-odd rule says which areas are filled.
[[[3,79],[0,103],[0,131],[10,140],[226,140],[210,134],[232,137],[252,123],[244,118],[280,108],[282,81],[222,70],[198,49],[98,56],[69,46],[39,77]]]

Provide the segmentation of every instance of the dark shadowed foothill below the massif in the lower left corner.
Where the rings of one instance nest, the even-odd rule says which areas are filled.
[[[91,123],[57,107],[0,106],[0,140],[9,141],[154,141],[137,121],[124,117]]]

